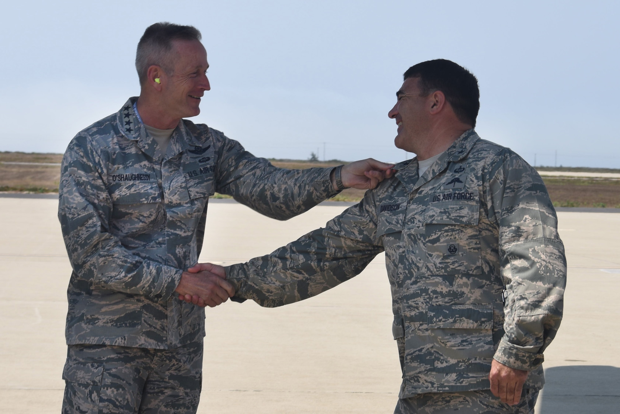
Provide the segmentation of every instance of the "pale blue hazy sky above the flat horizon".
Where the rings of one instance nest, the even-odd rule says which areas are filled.
[[[203,34],[211,91],[192,118],[257,156],[401,161],[387,118],[434,58],[480,83],[482,138],[530,164],[620,168],[617,1],[29,1],[2,6],[0,151],[64,152],[139,94],[158,21]],[[411,156],[411,154],[409,154]]]

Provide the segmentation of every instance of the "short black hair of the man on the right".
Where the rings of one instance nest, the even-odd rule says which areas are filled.
[[[447,59],[427,60],[414,64],[402,77],[419,77],[422,96],[441,90],[459,121],[476,126],[480,110],[478,79],[463,66]]]

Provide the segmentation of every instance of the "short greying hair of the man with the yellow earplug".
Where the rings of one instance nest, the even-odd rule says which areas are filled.
[[[136,50],[136,71],[140,84],[146,81],[149,66],[161,66],[166,73],[174,69],[172,51],[173,40],[198,40],[202,38],[200,31],[193,26],[182,26],[169,22],[152,24],[144,30]]]

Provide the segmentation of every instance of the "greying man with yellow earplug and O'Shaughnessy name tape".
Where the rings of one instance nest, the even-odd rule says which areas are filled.
[[[193,413],[202,379],[204,309],[234,294],[198,260],[214,192],[288,219],[345,187],[372,188],[372,159],[285,170],[223,133],[183,120],[210,89],[200,32],[154,24],[136,53],[138,98],[97,121],[64,154],[58,217],[73,266],[64,413]]]

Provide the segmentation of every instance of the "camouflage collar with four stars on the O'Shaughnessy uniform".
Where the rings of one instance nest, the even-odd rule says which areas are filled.
[[[179,125],[175,128],[170,143],[166,150],[166,154],[162,154],[157,146],[156,141],[147,132],[142,125],[139,115],[136,113],[133,104],[138,101],[138,97],[131,97],[125,102],[125,105],[117,113],[118,128],[121,133],[131,141],[136,141],[138,148],[144,154],[156,161],[166,161],[184,151],[189,146],[190,134],[187,131],[184,120],[179,121]]]

